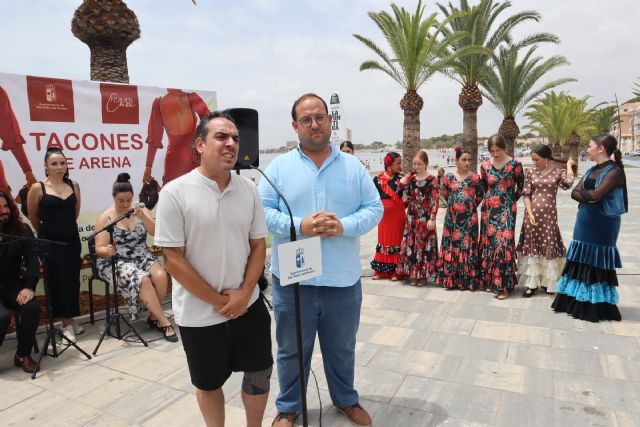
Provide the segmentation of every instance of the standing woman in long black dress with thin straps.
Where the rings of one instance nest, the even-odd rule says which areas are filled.
[[[73,321],[80,315],[80,236],[76,219],[80,213],[80,187],[69,179],[67,158],[57,147],[44,156],[47,179],[31,186],[27,195],[29,220],[38,237],[66,243],[65,246],[40,247],[51,315],[62,319],[62,333],[75,342],[84,332]]]

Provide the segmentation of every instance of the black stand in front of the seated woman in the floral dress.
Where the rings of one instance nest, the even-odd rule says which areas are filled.
[[[129,218],[133,212],[135,211],[135,209],[129,209],[127,212],[123,213],[122,215],[120,215],[119,217],[117,217],[116,219],[114,219],[113,221],[111,221],[109,224],[105,225],[104,227],[102,227],[101,229],[99,229],[98,231],[96,231],[95,233],[93,233],[90,237],[89,240],[96,238],[96,236],[104,231],[107,231],[109,233],[109,241],[113,244],[114,239],[113,239],[113,231],[115,229],[115,226],[117,223],[119,223],[120,221],[122,221],[125,218]],[[133,332],[135,334],[136,337],[138,337],[138,339],[140,340],[140,342],[142,342],[142,344],[144,344],[145,347],[149,347],[149,344],[147,344],[147,342],[144,340],[144,338],[142,338],[142,336],[138,333],[138,331],[133,327],[133,325],[129,322],[129,320],[122,315],[122,313],[120,313],[120,302],[118,301],[118,275],[116,273],[116,265],[118,264],[118,253],[116,251],[116,253],[110,258],[111,261],[111,280],[113,283],[113,313],[109,313],[109,292],[107,292],[107,295],[105,295],[105,300],[106,300],[106,309],[107,309],[107,325],[105,326],[104,330],[102,331],[102,333],[100,334],[100,339],[98,340],[98,344],[96,345],[96,348],[93,349],[93,355],[95,356],[98,353],[98,349],[100,348],[100,346],[102,345],[102,341],[104,340],[104,337],[109,334],[109,336],[113,337],[113,338],[117,338],[119,340],[123,340],[130,332]],[[108,287],[107,287],[108,289]],[[125,332],[124,334],[122,333],[121,329],[120,329],[120,320],[122,320],[128,327],[129,330],[127,332]],[[111,327],[114,326],[116,334],[113,335],[111,333]]]

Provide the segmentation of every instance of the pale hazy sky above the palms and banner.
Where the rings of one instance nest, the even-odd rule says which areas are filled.
[[[473,0],[471,0],[473,3]],[[89,48],[71,33],[80,0],[0,1],[0,72],[77,80],[89,79]],[[295,140],[291,105],[303,93],[329,100],[337,92],[353,142],[402,139],[404,90],[379,71],[359,71],[376,55],[353,37],[360,34],[388,48],[367,15],[390,11],[382,0],[127,0],[140,22],[141,38],[127,51],[130,83],[214,90],[222,108],[255,108],[260,145]],[[416,1],[397,1],[411,11]],[[427,13],[437,12],[427,0]],[[457,4],[457,0],[454,2]],[[631,97],[640,81],[640,22],[637,0],[512,0],[504,15],[537,10],[539,23],[521,24],[516,40],[537,32],[556,34],[559,45],[538,54],[563,55],[571,64],[544,81],[573,77],[562,86],[591,96],[591,105]],[[436,75],[419,90],[424,98],[421,136],[462,132],[459,83]],[[485,100],[478,133],[495,133],[502,118]],[[519,116],[524,133],[527,121]]]

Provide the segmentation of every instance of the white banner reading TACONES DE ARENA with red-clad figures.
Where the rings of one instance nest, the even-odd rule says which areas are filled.
[[[113,203],[118,173],[131,175],[137,197],[147,164],[160,185],[194,167],[195,127],[216,104],[212,91],[0,73],[0,188],[10,186],[15,197],[33,180],[29,169],[44,180],[47,148],[61,148],[80,185],[78,228],[86,238]]]

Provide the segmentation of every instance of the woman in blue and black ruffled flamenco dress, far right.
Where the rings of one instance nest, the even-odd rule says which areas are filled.
[[[567,251],[567,263],[551,307],[576,319],[621,320],[616,268],[622,267],[616,247],[620,216],[628,211],[627,184],[618,142],[599,135],[587,153],[596,162],[571,193],[580,203]]]

